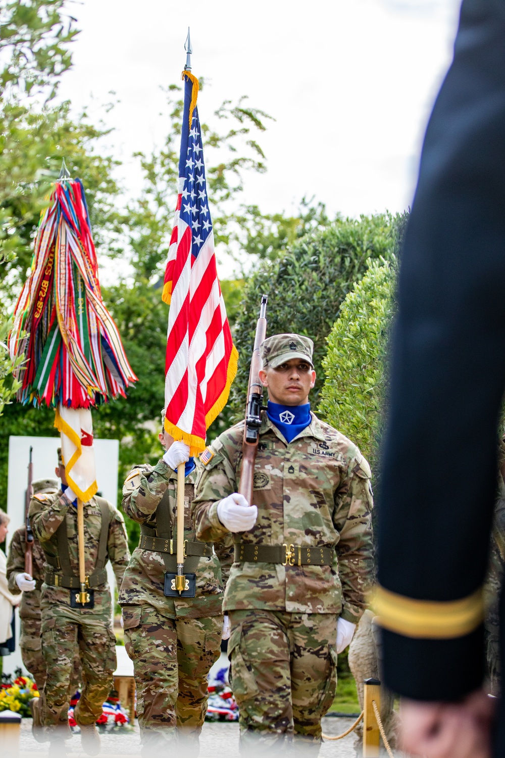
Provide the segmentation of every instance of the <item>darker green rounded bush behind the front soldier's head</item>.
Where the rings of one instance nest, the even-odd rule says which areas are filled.
[[[401,217],[378,214],[359,219],[337,218],[326,229],[301,237],[277,260],[264,259],[245,285],[242,311],[235,322],[240,359],[229,405],[212,431],[242,418],[247,394],[249,359],[254,343],[260,296],[269,296],[267,334],[298,332],[314,342],[316,407],[324,381],[322,361],[341,302],[366,272],[370,259],[390,260],[397,246]],[[210,439],[212,436],[210,435]]]

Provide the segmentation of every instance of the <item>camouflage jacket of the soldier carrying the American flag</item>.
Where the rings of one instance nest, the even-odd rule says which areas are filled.
[[[193,473],[185,481],[184,514],[185,539],[192,541],[196,540],[195,526],[190,514],[194,483],[195,474]],[[170,525],[175,546],[177,472],[167,466],[163,459],[158,461],[154,468],[150,465],[137,465],[132,468],[123,487],[123,509],[129,518],[155,529],[156,509],[167,487],[170,492]],[[223,576],[226,581],[233,554],[231,539],[226,534],[223,537],[225,537],[224,540],[214,545],[214,551],[210,557],[202,557],[198,561],[195,572],[196,594],[193,598],[166,597],[164,595],[166,568],[162,553],[136,547],[121,585],[120,605],[148,603],[169,619],[175,619],[176,616],[199,619],[204,616],[220,615],[223,613]]]

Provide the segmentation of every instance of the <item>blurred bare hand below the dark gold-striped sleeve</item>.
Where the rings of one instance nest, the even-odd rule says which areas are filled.
[[[490,758],[495,702],[483,690],[461,703],[402,700],[401,749],[423,758]]]

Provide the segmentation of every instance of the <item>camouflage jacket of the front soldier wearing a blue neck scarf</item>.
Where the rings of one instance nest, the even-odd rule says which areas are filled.
[[[242,421],[207,448],[192,504],[201,540],[226,534],[217,502],[237,491],[243,428]],[[233,535],[235,542],[335,548],[333,565],[235,562],[223,608],[338,613],[357,622],[371,577],[373,506],[369,465],[357,446],[314,414],[287,443],[263,412],[254,505],[256,525]]]

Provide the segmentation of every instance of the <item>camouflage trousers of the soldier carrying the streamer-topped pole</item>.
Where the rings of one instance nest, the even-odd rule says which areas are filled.
[[[67,719],[74,653],[79,648],[83,691],[74,710],[78,724],[93,724],[113,687],[116,638],[110,616],[83,609],[51,606],[42,611],[42,655],[47,678],[39,702],[37,722],[50,732]]]

